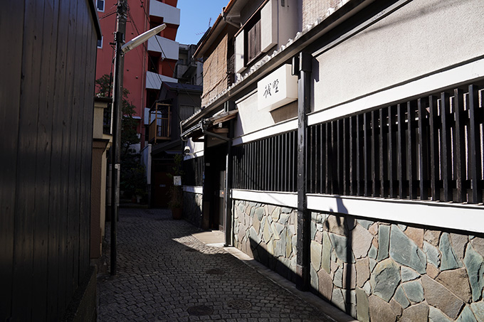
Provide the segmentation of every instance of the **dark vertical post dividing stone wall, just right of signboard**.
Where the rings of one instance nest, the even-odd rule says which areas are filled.
[[[310,212],[306,200],[306,129],[310,112],[312,55],[299,53],[293,58],[293,75],[298,75],[298,256],[296,287],[307,291],[310,286]]]

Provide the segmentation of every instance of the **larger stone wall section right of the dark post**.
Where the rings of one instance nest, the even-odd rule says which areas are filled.
[[[482,237],[324,213],[311,224],[312,288],[359,321],[484,321]]]

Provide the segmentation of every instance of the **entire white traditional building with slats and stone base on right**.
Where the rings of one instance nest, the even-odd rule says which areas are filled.
[[[226,67],[181,122],[185,217],[360,321],[481,321],[482,16],[230,1],[195,53]]]

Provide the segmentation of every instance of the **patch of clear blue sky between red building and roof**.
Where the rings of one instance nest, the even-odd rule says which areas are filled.
[[[213,26],[228,1],[178,0],[177,7],[181,12],[176,41],[186,45],[198,43],[201,36],[204,36],[205,31],[209,28],[210,18],[210,26]]]

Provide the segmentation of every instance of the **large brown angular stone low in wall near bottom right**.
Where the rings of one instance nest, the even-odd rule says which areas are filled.
[[[461,312],[464,302],[453,295],[442,284],[423,275],[421,278],[425,299],[428,304],[435,306],[449,318],[455,320]]]

